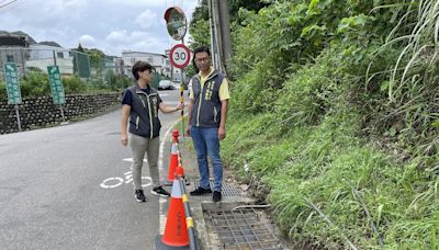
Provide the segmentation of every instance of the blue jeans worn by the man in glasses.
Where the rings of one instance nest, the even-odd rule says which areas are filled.
[[[219,138],[217,127],[191,126],[191,137],[199,163],[200,186],[210,189],[207,154],[213,164],[213,190],[221,192],[223,188],[223,164],[219,158]]]

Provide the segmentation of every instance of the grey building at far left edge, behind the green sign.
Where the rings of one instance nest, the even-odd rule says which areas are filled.
[[[26,35],[0,34],[0,72],[4,63],[15,63],[20,76],[24,75],[24,65],[30,57],[29,37]],[[2,78],[2,75],[0,76]]]

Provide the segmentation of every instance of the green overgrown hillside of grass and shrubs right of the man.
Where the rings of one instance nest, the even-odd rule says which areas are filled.
[[[226,166],[297,246],[439,249],[439,1],[263,2],[233,19]]]

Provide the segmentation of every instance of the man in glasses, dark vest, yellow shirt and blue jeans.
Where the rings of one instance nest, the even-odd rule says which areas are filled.
[[[222,198],[223,164],[219,157],[219,140],[226,137],[226,117],[228,109],[228,82],[225,76],[211,66],[211,53],[207,47],[193,52],[194,64],[200,70],[192,77],[190,104],[188,106],[189,128],[200,172],[200,186],[191,195],[212,193],[209,182],[207,154],[211,158],[214,175],[213,201]]]

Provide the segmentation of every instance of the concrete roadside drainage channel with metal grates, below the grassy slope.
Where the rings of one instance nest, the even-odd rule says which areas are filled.
[[[195,181],[194,188],[198,185]],[[205,249],[285,249],[263,209],[251,205],[252,198],[245,197],[241,190],[228,184],[223,184],[222,193],[221,203],[203,201],[195,208],[203,216],[198,218],[203,223],[196,227]]]

